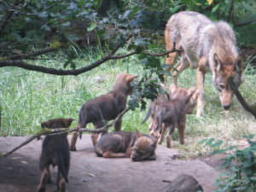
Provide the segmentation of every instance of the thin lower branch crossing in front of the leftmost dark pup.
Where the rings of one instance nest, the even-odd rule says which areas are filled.
[[[41,137],[41,136],[45,136],[45,135],[60,135],[60,134],[70,133],[70,132],[73,132],[73,131],[79,131],[79,132],[86,131],[86,132],[95,132],[95,133],[100,133],[102,131],[108,131],[108,128],[113,126],[117,121],[119,121],[119,119],[121,119],[124,116],[124,114],[127,111],[129,111],[129,110],[130,110],[130,108],[126,108],[122,113],[119,113],[119,115],[116,117],[116,119],[113,120],[113,122],[111,122],[111,123],[109,123],[107,125],[104,125],[104,126],[102,126],[101,128],[98,128],[98,129],[90,130],[90,129],[87,129],[87,128],[80,128],[80,129],[75,128],[75,129],[68,130],[68,131],[67,131],[68,128],[44,129],[43,131],[39,131],[38,133],[36,133],[32,137],[27,138],[25,142],[20,143],[20,145],[18,145],[17,147],[9,150],[9,152],[0,154],[0,158],[1,157],[7,157],[10,154],[13,154],[19,148],[23,147],[27,143],[31,143],[35,138],[38,138],[38,137]]]

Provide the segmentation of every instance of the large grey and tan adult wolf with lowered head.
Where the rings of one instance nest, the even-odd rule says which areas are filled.
[[[241,56],[236,47],[236,37],[232,28],[224,21],[213,22],[205,15],[193,11],[183,11],[172,15],[165,31],[166,49],[183,49],[177,71],[172,73],[177,85],[177,75],[185,68],[196,68],[196,85],[200,90],[196,116],[201,116],[204,108],[205,73],[212,73],[212,82],[219,92],[219,100],[225,110],[230,108],[233,91],[228,77],[233,76],[236,86],[241,84]],[[170,69],[174,67],[177,53],[166,57]]]

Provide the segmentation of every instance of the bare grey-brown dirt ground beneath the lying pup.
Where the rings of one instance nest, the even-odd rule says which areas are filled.
[[[27,137],[0,137],[0,153],[22,143]],[[70,137],[69,137],[70,138]],[[34,192],[40,172],[38,159],[42,141],[33,141],[7,158],[0,159],[0,192]],[[201,183],[205,192],[212,192],[218,177],[218,158],[174,160],[175,149],[158,146],[157,160],[132,162],[129,158],[96,157],[90,136],[79,140],[78,151],[71,152],[69,192],[160,192],[179,174],[187,173]],[[213,166],[212,166],[212,165]],[[55,181],[56,167],[52,170]],[[55,191],[55,183],[47,191]]]

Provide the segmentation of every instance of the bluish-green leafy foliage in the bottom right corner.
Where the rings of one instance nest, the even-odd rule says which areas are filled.
[[[237,146],[219,149],[223,141],[214,138],[201,141],[211,148],[218,148],[213,150],[212,154],[223,154],[233,150],[223,160],[222,166],[227,171],[222,172],[218,177],[216,192],[253,192],[256,190],[256,142],[253,141],[253,137],[253,135],[246,137],[249,146],[243,149],[237,149]]]

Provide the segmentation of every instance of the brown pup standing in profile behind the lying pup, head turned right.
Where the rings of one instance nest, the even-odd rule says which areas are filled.
[[[113,90],[105,95],[85,102],[79,112],[78,127],[86,127],[88,123],[92,123],[95,128],[99,128],[105,125],[106,121],[115,119],[119,113],[125,110],[127,96],[131,95],[132,92],[131,82],[136,78],[137,76],[135,75],[120,73],[116,77]],[[115,131],[120,131],[121,123],[121,119],[115,123]],[[74,132],[70,150],[76,150],[75,145],[78,137],[78,132]]]

